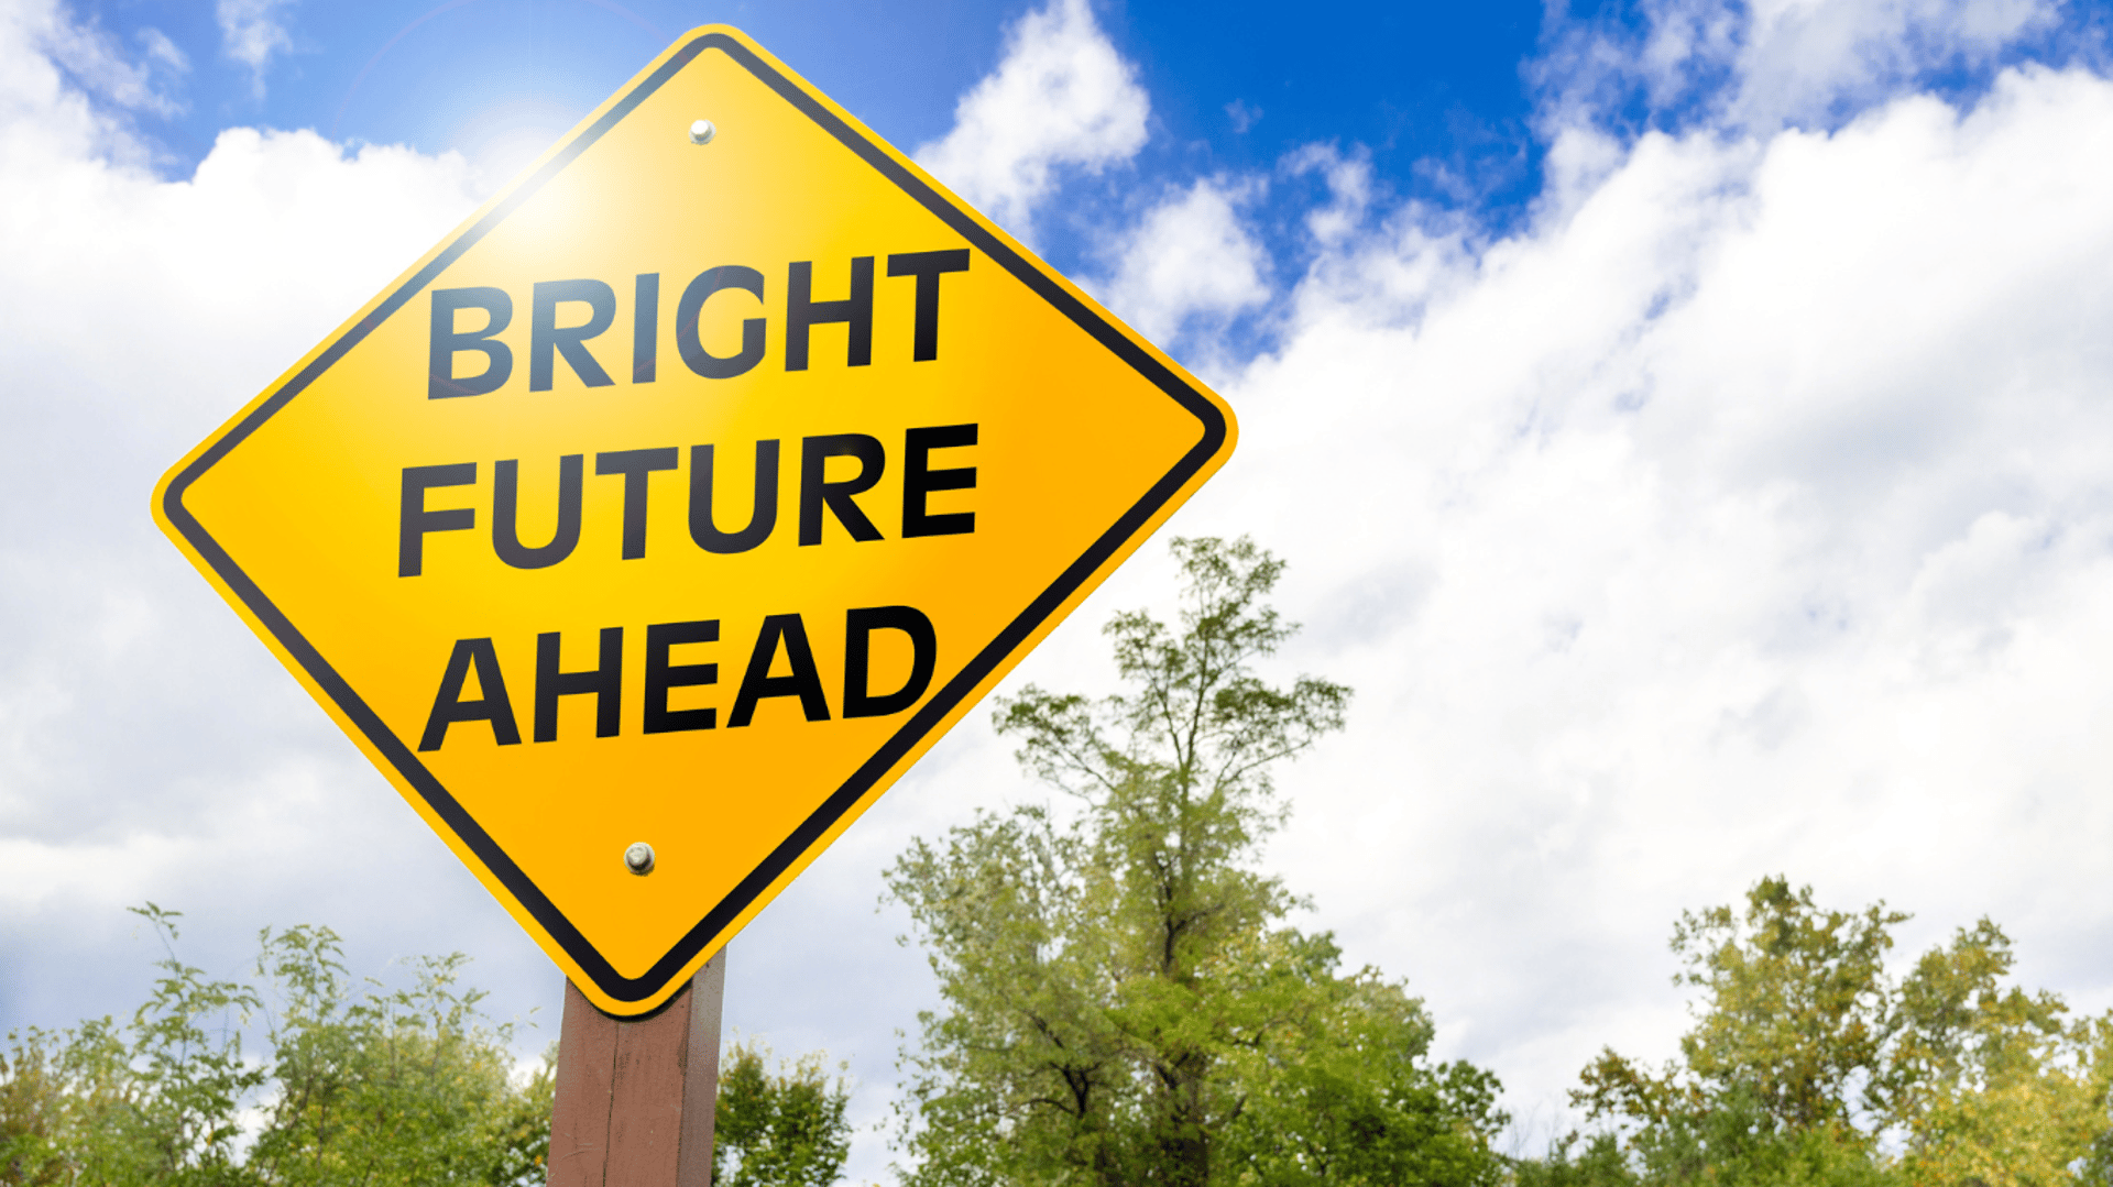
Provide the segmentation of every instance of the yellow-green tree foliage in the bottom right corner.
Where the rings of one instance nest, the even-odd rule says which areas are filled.
[[[1906,919],[1824,910],[1783,879],[1743,912],[1682,915],[1676,984],[1701,999],[1680,1058],[1602,1052],[1574,1098],[1627,1141],[1570,1160],[1572,1136],[1517,1183],[2107,1183],[2113,1020],[2007,986],[2009,938],[1986,919],[1893,980]]]

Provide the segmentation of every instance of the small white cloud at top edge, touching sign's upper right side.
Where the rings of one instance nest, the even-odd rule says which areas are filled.
[[[1033,207],[1059,167],[1097,173],[1145,146],[1152,110],[1137,72],[1086,0],[1050,0],[1006,36],[997,70],[961,95],[955,125],[917,150],[932,171],[991,220],[1027,239]]]

